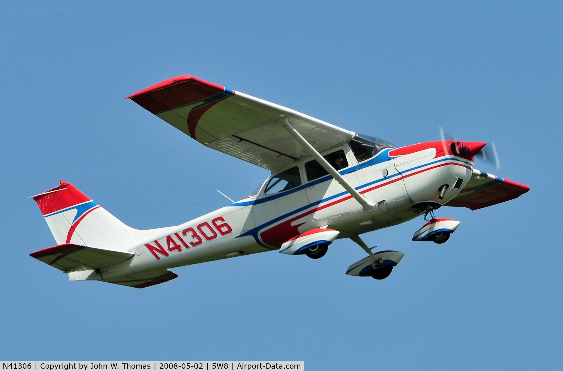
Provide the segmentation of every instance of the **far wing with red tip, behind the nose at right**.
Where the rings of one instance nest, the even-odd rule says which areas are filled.
[[[527,185],[473,169],[466,186],[446,206],[477,210],[515,199],[529,190]]]

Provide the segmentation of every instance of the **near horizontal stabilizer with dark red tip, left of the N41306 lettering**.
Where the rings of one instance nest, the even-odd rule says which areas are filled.
[[[68,273],[109,267],[131,258],[133,253],[69,243],[48,247],[29,256]]]

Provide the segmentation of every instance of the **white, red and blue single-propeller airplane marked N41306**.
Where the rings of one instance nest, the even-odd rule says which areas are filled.
[[[404,254],[373,252],[361,234],[423,216],[415,241],[444,243],[460,222],[443,205],[472,210],[529,187],[473,168],[485,142],[445,140],[397,147],[191,75],[131,99],[212,149],[269,169],[247,198],[177,226],[129,227],[75,186],[33,196],[57,245],[30,256],[69,280],[135,288],[177,275],[170,268],[278,250],[318,259],[350,238],[367,256],[347,275],[385,279]]]

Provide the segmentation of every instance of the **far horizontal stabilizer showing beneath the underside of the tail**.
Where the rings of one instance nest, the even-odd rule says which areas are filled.
[[[99,274],[97,274],[95,271],[88,270],[88,271],[69,273],[69,280],[71,281],[96,280],[96,281],[104,281],[108,283],[114,283],[117,285],[142,289],[145,287],[158,285],[159,283],[164,283],[169,280],[173,280],[177,276],[178,275],[176,273],[173,273],[168,269],[161,269],[152,272],[131,273],[124,276],[114,277],[105,280],[102,279],[102,277]]]

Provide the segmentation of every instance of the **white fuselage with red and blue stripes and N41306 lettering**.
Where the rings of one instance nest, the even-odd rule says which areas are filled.
[[[131,270],[154,271],[270,251],[304,231],[324,226],[338,230],[338,238],[347,238],[411,220],[423,212],[417,205],[444,204],[470,179],[472,161],[437,154],[432,146],[403,148],[409,147],[413,147],[410,152],[400,154],[385,149],[361,163],[347,144],[330,150],[345,151],[349,166],[339,173],[366,200],[377,204],[372,212],[364,212],[330,175],[306,181],[307,160],[302,160],[297,163],[303,179],[300,186],[265,194],[265,182],[255,196],[184,224],[154,230],[154,235],[128,248],[135,252],[131,260],[101,273],[106,279]],[[448,189],[439,199],[443,185]]]

